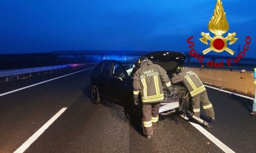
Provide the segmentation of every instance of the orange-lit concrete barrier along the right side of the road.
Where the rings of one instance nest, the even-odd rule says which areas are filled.
[[[238,94],[255,97],[254,72],[252,71],[191,68],[204,83]]]

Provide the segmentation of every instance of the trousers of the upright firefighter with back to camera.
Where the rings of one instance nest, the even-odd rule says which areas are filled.
[[[158,112],[160,103],[142,104],[142,122],[145,135],[152,135],[153,129],[158,125]]]

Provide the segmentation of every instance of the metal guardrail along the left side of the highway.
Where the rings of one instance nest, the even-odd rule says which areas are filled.
[[[87,63],[87,64],[95,64],[95,63]],[[39,75],[40,72],[44,72],[44,73],[46,73],[47,71],[52,72],[52,70],[85,66],[87,64],[65,64],[65,65],[57,65],[57,66],[33,67],[33,68],[26,68],[26,69],[0,70],[0,78],[5,78],[5,81],[9,81],[10,77],[16,77],[17,79],[19,79],[20,75],[26,75],[26,74],[29,74],[29,77],[31,77],[32,73],[38,73]]]

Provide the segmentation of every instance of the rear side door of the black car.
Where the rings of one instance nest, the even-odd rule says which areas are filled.
[[[111,94],[111,86],[110,86],[110,71],[112,70],[113,63],[111,62],[105,62],[102,67],[101,71],[101,84],[99,86],[101,87],[101,95],[104,98],[107,98],[109,100],[110,94]]]

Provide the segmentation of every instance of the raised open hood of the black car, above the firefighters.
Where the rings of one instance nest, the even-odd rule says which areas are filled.
[[[174,72],[176,67],[183,64],[186,56],[181,52],[157,51],[149,53],[146,56],[154,64],[163,67],[167,72]]]

